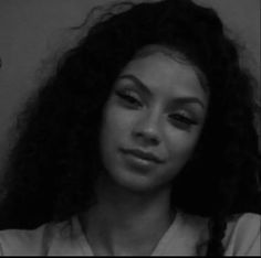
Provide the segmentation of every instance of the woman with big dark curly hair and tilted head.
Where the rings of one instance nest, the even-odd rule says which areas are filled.
[[[252,83],[213,10],[111,7],[20,116],[1,254],[260,255]]]

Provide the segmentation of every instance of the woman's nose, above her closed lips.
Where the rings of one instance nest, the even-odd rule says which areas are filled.
[[[143,146],[160,143],[160,119],[156,114],[144,114],[133,128],[133,137]]]

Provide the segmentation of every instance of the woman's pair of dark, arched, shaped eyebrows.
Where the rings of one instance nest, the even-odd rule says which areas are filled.
[[[132,74],[121,75],[118,77],[118,80],[119,79],[130,79],[135,83],[135,85],[137,85],[142,89],[142,92],[144,92],[145,94],[147,94],[149,96],[153,95],[152,92],[148,89],[148,87],[142,80],[139,80],[137,77],[135,77]],[[174,98],[171,103],[180,104],[180,105],[198,104],[201,106],[202,109],[205,109],[205,104],[197,97],[177,97],[177,98]]]

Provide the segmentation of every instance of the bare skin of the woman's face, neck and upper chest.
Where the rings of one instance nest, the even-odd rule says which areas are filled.
[[[154,53],[125,67],[104,108],[97,203],[81,216],[94,255],[153,254],[174,222],[171,182],[194,153],[207,105],[189,64]]]

